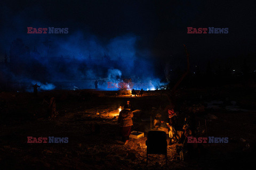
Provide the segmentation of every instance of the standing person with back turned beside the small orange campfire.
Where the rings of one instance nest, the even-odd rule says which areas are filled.
[[[124,109],[119,113],[117,122],[121,128],[122,141],[126,145],[129,141],[129,135],[132,129],[132,117],[133,113],[129,105],[124,105]]]

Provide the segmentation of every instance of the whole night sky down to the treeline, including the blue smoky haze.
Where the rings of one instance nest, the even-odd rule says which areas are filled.
[[[192,69],[199,65],[204,71],[209,61],[217,66],[234,60],[236,65],[246,57],[255,65],[250,58],[253,54],[255,58],[256,45],[253,1],[1,1],[0,9],[2,61],[5,53],[10,55],[12,41],[21,38],[30,51],[35,46],[41,53],[42,42],[51,40],[47,57],[90,55],[99,60],[108,55],[111,60],[132,61],[139,77],[146,71],[162,78],[166,63],[173,69],[185,65],[183,44]],[[29,35],[27,27],[68,28],[69,32]],[[187,34],[187,27],[228,28],[229,32]],[[141,65],[140,73],[136,67]],[[119,70],[124,75],[132,72]]]

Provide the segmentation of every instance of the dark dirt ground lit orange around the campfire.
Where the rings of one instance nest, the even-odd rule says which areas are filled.
[[[1,169],[251,169],[255,164],[256,103],[255,90],[241,86],[181,89],[178,92],[180,120],[194,112],[204,135],[228,137],[228,143],[204,143],[197,154],[181,161],[176,145],[168,147],[165,157],[149,155],[146,166],[147,132],[150,116],[163,109],[165,91],[146,91],[142,97],[118,96],[116,91],[45,91],[37,97],[30,93],[2,92],[0,124]],[[56,98],[58,115],[47,117],[47,104]],[[134,113],[132,130],[145,132],[141,139],[123,145],[117,124],[118,107],[127,100]],[[216,108],[212,100],[223,101]],[[240,110],[227,106],[236,101]],[[197,109],[203,107],[204,109]],[[193,108],[195,108],[193,110]],[[218,118],[211,118],[215,115]],[[27,143],[27,137],[68,137],[68,143]]]

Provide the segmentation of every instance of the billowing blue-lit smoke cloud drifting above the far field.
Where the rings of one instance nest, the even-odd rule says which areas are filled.
[[[6,8],[1,9],[6,16],[10,14]],[[150,50],[137,47],[140,37],[126,33],[102,40],[90,31],[79,29],[69,29],[65,35],[27,34],[27,27],[54,27],[28,21],[27,15],[21,11],[19,15],[10,14],[8,21],[4,18],[6,24],[1,31],[5,34],[0,43],[10,60],[0,69],[4,75],[2,82],[37,82],[43,90],[94,88],[95,80],[99,81],[99,88],[107,89],[107,82],[118,83],[124,78],[148,83],[151,89],[160,84]]]

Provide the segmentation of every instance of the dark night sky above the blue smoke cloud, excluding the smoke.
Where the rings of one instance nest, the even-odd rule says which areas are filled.
[[[101,44],[134,35],[137,53],[149,52],[158,70],[167,61],[173,67],[185,61],[186,44],[191,63],[203,67],[216,58],[225,62],[255,53],[255,7],[253,1],[1,1],[0,50],[3,56],[19,37],[32,48],[39,43],[29,44],[27,27],[67,27],[69,35],[90,33]],[[229,33],[192,35],[187,27],[229,28]]]

